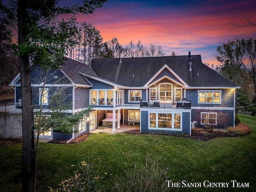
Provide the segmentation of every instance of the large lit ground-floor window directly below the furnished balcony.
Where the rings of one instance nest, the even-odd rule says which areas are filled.
[[[181,114],[149,113],[149,129],[182,130]]]

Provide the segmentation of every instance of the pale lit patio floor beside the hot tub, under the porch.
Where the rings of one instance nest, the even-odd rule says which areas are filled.
[[[139,125],[120,125],[120,128],[116,127],[116,132],[115,133],[122,133],[128,130],[140,130]],[[102,127],[98,126],[95,130],[91,131],[90,133],[112,133],[112,127]]]

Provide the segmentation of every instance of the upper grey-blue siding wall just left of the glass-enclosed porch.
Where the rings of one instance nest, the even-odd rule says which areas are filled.
[[[78,87],[75,89],[74,109],[85,108],[89,105],[89,89]]]

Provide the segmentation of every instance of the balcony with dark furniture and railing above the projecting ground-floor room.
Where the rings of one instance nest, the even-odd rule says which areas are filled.
[[[176,108],[176,109],[190,109],[191,100],[182,99],[175,100],[141,100],[140,107],[142,108]]]

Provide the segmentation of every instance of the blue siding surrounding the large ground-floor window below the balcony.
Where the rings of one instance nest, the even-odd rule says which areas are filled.
[[[191,129],[190,112],[183,112],[182,113],[182,131],[148,129],[148,119],[149,119],[148,115],[149,115],[148,111],[141,111],[141,113],[140,113],[141,132],[190,135],[190,129]]]

